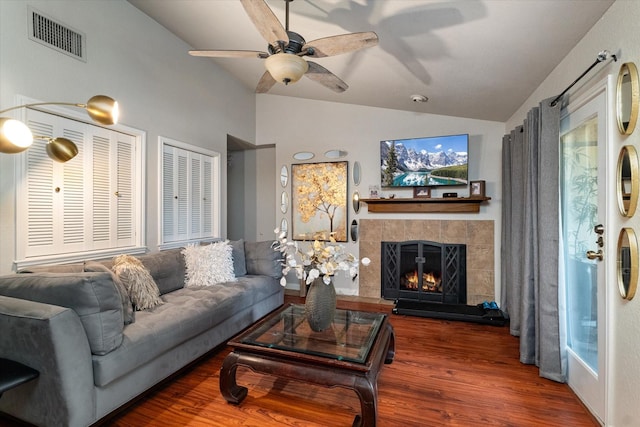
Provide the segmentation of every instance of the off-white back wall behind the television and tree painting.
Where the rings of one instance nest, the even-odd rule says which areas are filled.
[[[362,166],[362,182],[356,188],[350,179],[349,194],[358,190],[361,197],[369,194],[370,185],[380,185],[379,143],[384,139],[410,138],[468,133],[469,141],[469,178],[483,179],[487,183],[488,204],[481,206],[479,214],[370,214],[366,205],[355,214],[349,209],[349,223],[352,219],[491,219],[495,221],[495,248],[500,247],[501,188],[501,152],[503,123],[471,120],[459,117],[438,116],[382,108],[362,107],[326,101],[312,101],[276,95],[258,95],[256,121],[256,143],[276,144],[276,166],[290,167],[295,161],[292,156],[298,151],[310,151],[316,157],[309,162],[332,161],[324,157],[330,149],[341,149],[348,156],[340,160],[349,161],[349,174],[356,160]],[[276,223],[284,216],[291,223],[291,210],[283,215],[280,212],[280,193],[282,187],[279,177],[274,176],[278,184],[273,194]],[[289,184],[286,191],[290,193]],[[456,187],[448,191],[457,191],[468,195],[468,188]],[[389,192],[386,192],[389,193]],[[394,190],[396,197],[412,197],[411,190]],[[433,192],[440,197],[442,190]],[[291,194],[289,194],[291,196]],[[291,200],[291,199],[290,199]],[[349,206],[351,204],[349,203]],[[274,224],[275,226],[275,224]],[[349,242],[348,250],[358,256],[358,244]],[[499,301],[500,251],[496,250],[494,268],[496,272],[496,296]],[[358,282],[352,282],[342,275],[336,278],[336,290],[344,295],[357,295]],[[295,287],[295,285],[291,285]]]

